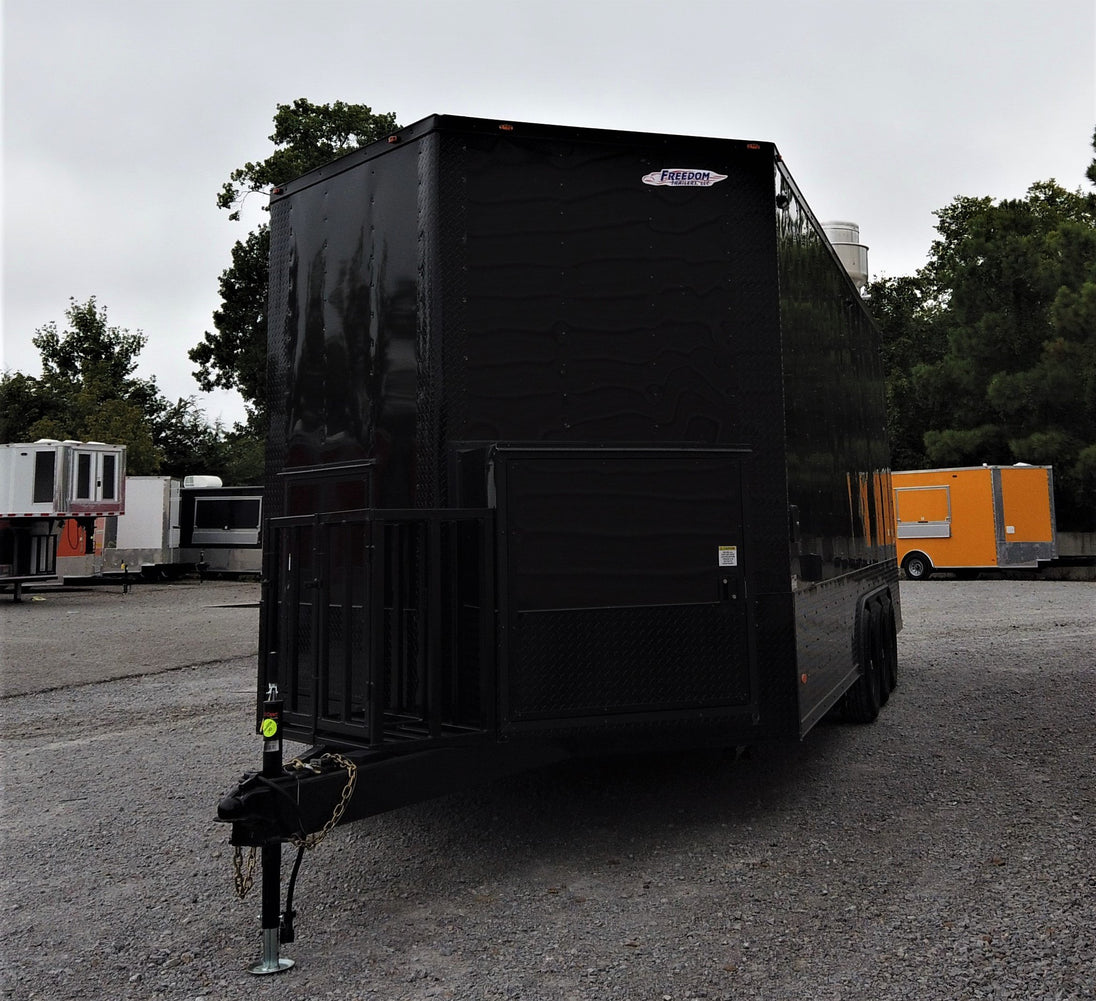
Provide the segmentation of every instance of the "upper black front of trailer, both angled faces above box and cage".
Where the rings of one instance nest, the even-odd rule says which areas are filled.
[[[373,458],[377,503],[444,507],[481,501],[467,442],[747,444],[783,537],[772,147],[408,135],[275,198],[272,469]],[[643,183],[663,168],[726,178]]]

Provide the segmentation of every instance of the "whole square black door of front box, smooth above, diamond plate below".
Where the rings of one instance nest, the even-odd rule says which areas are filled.
[[[494,450],[503,729],[756,718],[745,455]]]

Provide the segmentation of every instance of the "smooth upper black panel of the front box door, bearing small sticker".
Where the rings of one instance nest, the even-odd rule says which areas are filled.
[[[500,450],[505,604],[738,600],[745,457],[710,450]]]

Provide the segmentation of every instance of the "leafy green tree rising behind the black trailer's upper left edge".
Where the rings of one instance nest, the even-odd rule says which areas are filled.
[[[398,127],[393,113],[375,114],[365,104],[312,104],[304,98],[278,104],[270,136],[274,152],[233,170],[217,205],[229,211],[229,218],[238,219],[250,194],[290,181]],[[221,306],[214,312],[214,330],[207,330],[189,352],[204,390],[219,387],[240,393],[249,405],[252,429],[263,425],[266,407],[269,253],[265,224],[237,241],[231,264],[220,275]]]

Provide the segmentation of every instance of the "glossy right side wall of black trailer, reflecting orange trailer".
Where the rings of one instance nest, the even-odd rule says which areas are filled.
[[[777,232],[784,424],[801,729],[855,672],[858,595],[887,588],[898,624],[879,332],[783,163]]]

